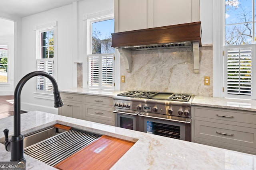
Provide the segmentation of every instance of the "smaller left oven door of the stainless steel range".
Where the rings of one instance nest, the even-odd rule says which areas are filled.
[[[138,111],[115,109],[113,113],[116,127],[139,131]]]

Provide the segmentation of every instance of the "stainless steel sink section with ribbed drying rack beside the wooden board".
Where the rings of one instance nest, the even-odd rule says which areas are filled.
[[[41,129],[24,135],[24,154],[54,166],[100,136],[73,128],[67,131],[54,127]]]

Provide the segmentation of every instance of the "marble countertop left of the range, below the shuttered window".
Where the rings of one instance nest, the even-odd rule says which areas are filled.
[[[60,90],[60,92],[112,97],[112,96],[116,96],[118,93],[122,93],[126,91],[102,90],[102,89],[91,89],[91,88],[70,88],[70,89]]]

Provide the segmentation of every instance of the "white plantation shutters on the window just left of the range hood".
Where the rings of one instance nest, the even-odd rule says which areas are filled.
[[[88,86],[114,89],[114,54],[88,55]]]

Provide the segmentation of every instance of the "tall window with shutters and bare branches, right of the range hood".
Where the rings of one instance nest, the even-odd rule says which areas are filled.
[[[224,96],[256,99],[254,0],[225,1]]]

